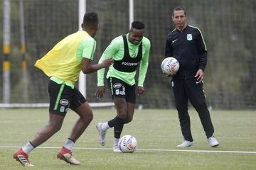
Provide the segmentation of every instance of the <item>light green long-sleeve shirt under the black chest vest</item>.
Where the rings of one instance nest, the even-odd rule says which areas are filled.
[[[137,57],[137,53],[139,50],[139,45],[134,45],[132,42],[128,40],[127,34],[127,42],[129,48],[129,55],[131,57]],[[142,61],[139,66],[139,81],[138,86],[143,86],[144,80],[146,77],[146,70],[149,65],[149,50],[150,50],[150,41],[148,38],[143,37],[142,39]],[[103,60],[107,58],[113,57],[114,60],[122,60],[124,57],[124,40],[122,35],[117,38],[114,38],[110,45],[106,48],[105,52],[103,52],[100,57],[99,63],[102,63]],[[117,69],[114,69],[113,65],[110,66],[109,71],[107,72],[108,77],[115,77],[117,79],[121,79],[125,83],[129,85],[135,84],[135,75],[137,71],[134,72],[120,72]],[[104,86],[104,75],[105,68],[97,71],[97,86]]]

